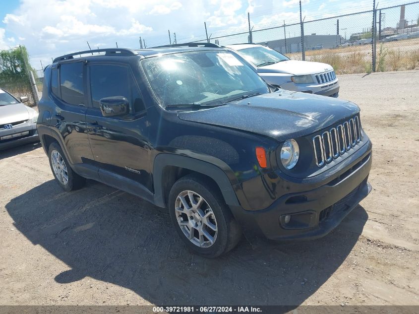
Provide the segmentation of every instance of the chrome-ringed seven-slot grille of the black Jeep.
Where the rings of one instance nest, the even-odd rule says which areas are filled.
[[[361,140],[358,116],[313,137],[316,165],[321,167],[353,148]]]

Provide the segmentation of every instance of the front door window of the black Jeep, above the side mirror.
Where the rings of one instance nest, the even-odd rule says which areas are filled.
[[[145,109],[138,88],[128,67],[114,64],[92,64],[90,71],[90,90],[94,108],[105,97],[123,96],[128,99],[131,112]]]

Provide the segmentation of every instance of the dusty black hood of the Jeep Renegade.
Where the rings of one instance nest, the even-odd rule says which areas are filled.
[[[357,113],[359,107],[346,100],[281,90],[221,107],[180,112],[179,118],[283,141],[314,133]]]

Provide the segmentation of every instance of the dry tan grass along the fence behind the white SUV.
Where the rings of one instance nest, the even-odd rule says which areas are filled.
[[[306,51],[306,60],[328,63],[337,74],[365,73],[372,70],[371,46]],[[290,54],[301,60],[301,53]],[[376,71],[412,70],[419,67],[419,39],[383,43],[377,47]]]

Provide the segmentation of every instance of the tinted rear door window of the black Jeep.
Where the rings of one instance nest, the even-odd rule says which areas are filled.
[[[60,64],[60,90],[67,104],[84,104],[83,63]]]

